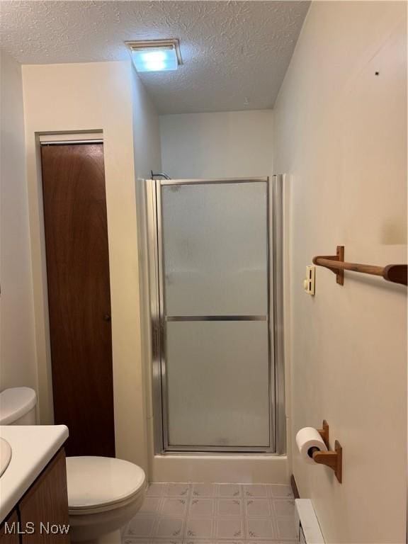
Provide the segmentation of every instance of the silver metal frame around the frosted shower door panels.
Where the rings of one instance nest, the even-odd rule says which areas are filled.
[[[166,316],[164,313],[164,259],[162,194],[166,185],[196,183],[266,183],[268,229],[268,314],[240,316],[245,320],[268,321],[269,440],[263,446],[169,446],[166,377]],[[154,453],[285,453],[285,383],[283,361],[283,176],[231,179],[146,180],[149,294],[152,331],[152,393],[154,410]],[[193,317],[194,319],[194,317]],[[198,318],[205,321],[206,316]],[[234,317],[237,319],[237,317]],[[181,318],[169,320],[183,320]],[[188,316],[188,320],[191,317]],[[197,320],[197,318],[196,318]],[[228,320],[221,316],[220,320]]]

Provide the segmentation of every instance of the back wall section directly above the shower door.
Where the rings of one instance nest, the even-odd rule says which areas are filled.
[[[171,178],[271,175],[271,110],[160,115],[160,134]]]

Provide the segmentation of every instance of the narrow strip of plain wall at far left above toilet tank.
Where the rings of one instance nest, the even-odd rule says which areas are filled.
[[[36,389],[21,66],[3,50],[0,108],[0,389]]]

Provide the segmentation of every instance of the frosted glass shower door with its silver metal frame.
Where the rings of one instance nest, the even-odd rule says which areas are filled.
[[[283,176],[146,183],[155,453],[285,453]]]

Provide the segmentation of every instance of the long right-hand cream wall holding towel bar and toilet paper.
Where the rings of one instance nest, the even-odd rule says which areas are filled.
[[[405,542],[407,295],[312,256],[407,262],[407,21],[404,2],[313,2],[274,109],[274,166],[291,181],[292,434],[327,419],[343,484],[293,470],[327,543]],[[375,75],[375,72],[379,72]]]

